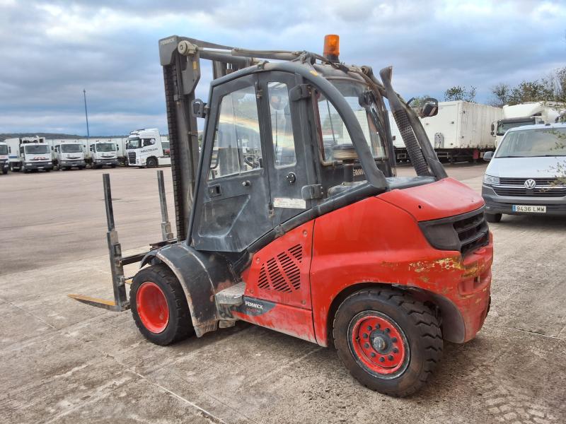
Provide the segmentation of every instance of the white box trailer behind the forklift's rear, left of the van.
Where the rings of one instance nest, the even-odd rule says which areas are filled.
[[[422,126],[440,160],[473,162],[486,151],[495,150],[490,126],[501,117],[500,107],[463,100],[439,102],[438,114],[422,118]],[[408,161],[407,149],[399,130],[394,124],[392,127],[395,156],[399,162]]]

